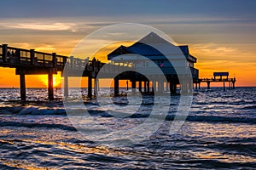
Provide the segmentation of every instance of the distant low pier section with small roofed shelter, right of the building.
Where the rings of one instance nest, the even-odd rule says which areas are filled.
[[[229,88],[235,89],[236,77],[230,78],[229,75],[229,72],[213,72],[212,78],[199,78],[198,81],[195,83],[195,88],[200,88],[201,82],[207,82],[207,89],[211,88],[212,82],[223,82],[223,89],[225,91],[225,82],[228,82]]]

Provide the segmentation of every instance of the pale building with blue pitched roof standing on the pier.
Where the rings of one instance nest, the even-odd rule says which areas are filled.
[[[108,60],[120,63],[131,62],[135,66],[135,70],[140,72],[150,72],[155,65],[158,65],[166,76],[167,82],[170,83],[171,93],[176,93],[177,84],[182,84],[177,76],[177,69],[179,68],[191,71],[193,82],[188,84],[190,89],[193,88],[193,83],[198,80],[198,70],[194,67],[196,58],[189,54],[189,46],[176,46],[154,32],[150,32],[130,47],[121,45],[114,49],[108,54]],[[119,78],[122,79],[122,77]],[[141,81],[148,81],[145,77],[139,76],[133,77],[133,79],[135,80],[130,81],[140,83]],[[161,90],[164,82],[157,83]]]

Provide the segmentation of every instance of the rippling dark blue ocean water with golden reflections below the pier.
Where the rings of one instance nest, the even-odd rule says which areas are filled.
[[[19,95],[18,88],[0,89],[0,169],[256,168],[256,88],[198,90],[183,126],[170,134],[180,98],[173,96],[160,128],[149,139],[127,146],[98,144],[79,133],[66,114],[61,89],[55,89],[56,99],[50,102],[44,88],[27,89],[26,102]],[[127,105],[124,97],[113,101]],[[123,118],[127,127],[147,119],[155,100],[145,96],[143,104],[131,102],[140,109]],[[95,121],[121,127],[120,119],[108,114],[116,111],[113,105],[97,107],[96,99],[85,99],[84,105],[93,117],[89,126]]]

